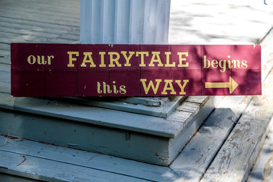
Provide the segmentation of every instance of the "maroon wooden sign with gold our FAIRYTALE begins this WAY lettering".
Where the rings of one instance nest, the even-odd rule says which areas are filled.
[[[14,97],[260,94],[260,45],[11,44]]]

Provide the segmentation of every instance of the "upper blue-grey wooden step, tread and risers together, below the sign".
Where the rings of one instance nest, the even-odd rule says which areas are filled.
[[[103,114],[99,117],[102,115],[104,117],[96,119],[96,115],[100,113],[99,108],[68,105],[38,98],[11,98],[9,94],[3,93],[0,93],[0,100],[4,102],[0,107],[8,109],[0,111],[2,134],[8,135],[10,132],[10,136],[102,152],[162,166],[168,166],[173,161],[204,118],[214,109],[211,98],[191,120],[198,125],[185,121],[191,126],[188,130],[187,127],[183,129],[185,123],[182,121],[151,116],[131,113],[121,115],[117,111],[102,109]],[[64,109],[67,113],[63,112]],[[67,115],[68,113],[70,114]],[[46,117],[48,115],[51,117]]]

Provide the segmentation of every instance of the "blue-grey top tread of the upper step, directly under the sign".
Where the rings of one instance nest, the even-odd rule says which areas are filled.
[[[0,66],[1,65],[2,64],[0,63]],[[3,69],[5,69],[5,67]],[[104,109],[86,105],[82,106],[85,104],[85,102],[78,105],[79,103],[67,103],[54,100],[45,100],[42,98],[13,98],[10,96],[10,73],[7,71],[0,71],[0,76],[0,108],[13,109],[16,111],[36,113],[64,119],[72,119],[75,121],[82,121],[96,125],[115,127],[169,138],[175,138],[177,133],[179,133],[183,129],[184,125],[198,113],[197,111],[199,111],[200,107],[203,106],[209,98],[208,96],[190,96],[188,97],[189,99],[186,98],[187,102],[182,102],[182,104],[180,104],[181,106],[177,104],[185,97],[177,97],[174,100],[167,100],[167,103],[165,103],[167,107],[161,108],[165,113],[171,113],[173,111],[173,107],[177,106],[179,106],[179,109],[182,110],[186,107],[186,103],[190,104],[189,102],[191,102],[191,100],[193,100],[194,103],[199,103],[193,103],[192,109],[195,110],[194,112],[179,111],[175,109],[174,112],[172,112],[169,117],[165,119],[125,111],[116,111],[113,110],[115,109],[114,107],[112,109]],[[98,103],[104,102],[98,101]],[[113,106],[125,105],[123,104],[124,102],[116,103],[119,104],[113,104]]]

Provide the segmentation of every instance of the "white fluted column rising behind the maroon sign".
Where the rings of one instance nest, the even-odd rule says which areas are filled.
[[[81,44],[168,44],[170,0],[81,0]]]

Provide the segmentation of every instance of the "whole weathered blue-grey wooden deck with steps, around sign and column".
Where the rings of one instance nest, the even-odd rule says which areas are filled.
[[[80,3],[1,1],[0,181],[269,181],[271,133],[257,156],[272,125],[273,14],[218,3],[173,1],[169,30],[170,44],[262,45],[263,95],[216,106],[221,97],[11,98],[9,44],[79,40]]]

